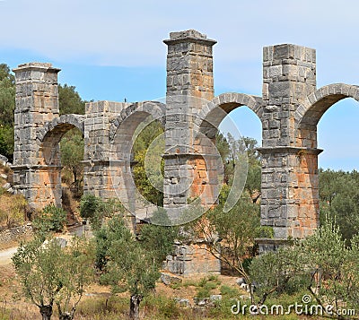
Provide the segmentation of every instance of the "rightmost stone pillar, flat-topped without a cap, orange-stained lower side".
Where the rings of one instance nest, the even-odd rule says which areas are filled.
[[[278,240],[304,238],[318,226],[320,151],[296,145],[294,120],[295,110],[315,90],[314,49],[291,44],[263,49],[261,224],[273,227]]]

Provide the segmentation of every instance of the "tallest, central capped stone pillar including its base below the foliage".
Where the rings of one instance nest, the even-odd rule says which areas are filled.
[[[216,41],[186,30],[171,32],[164,43],[168,55],[163,204],[171,221],[177,222],[188,198],[200,196],[207,204],[214,193],[212,186],[218,186],[210,163],[214,136],[207,139],[195,124],[200,109],[214,98],[212,48]],[[208,255],[207,246],[205,239],[176,243],[166,268],[183,276],[219,273],[220,261]]]

